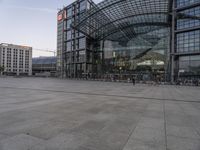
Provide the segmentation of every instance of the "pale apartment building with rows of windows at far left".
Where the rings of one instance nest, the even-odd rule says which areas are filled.
[[[0,44],[0,66],[5,75],[32,75],[32,47]]]

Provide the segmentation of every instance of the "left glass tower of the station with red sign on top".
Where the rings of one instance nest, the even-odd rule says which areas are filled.
[[[77,0],[58,12],[57,72],[60,77],[80,77],[91,70],[92,52],[87,38],[72,25],[90,9],[91,1]]]

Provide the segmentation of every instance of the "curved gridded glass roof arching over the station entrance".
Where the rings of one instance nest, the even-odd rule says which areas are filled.
[[[74,28],[97,40],[130,40],[170,25],[171,0],[104,0],[92,3]]]

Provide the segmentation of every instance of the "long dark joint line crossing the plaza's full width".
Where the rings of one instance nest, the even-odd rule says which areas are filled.
[[[112,94],[100,94],[100,93],[87,93],[87,92],[71,92],[71,91],[61,91],[61,90],[45,90],[45,89],[35,89],[35,88],[17,88],[17,87],[0,87],[2,89],[16,89],[16,90],[34,90],[43,92],[56,92],[56,93],[71,93],[71,94],[81,94],[81,95],[95,95],[95,96],[106,96],[106,97],[121,97],[121,98],[138,98],[145,100],[156,100],[156,101],[172,101],[172,102],[185,102],[185,103],[200,103],[200,100],[181,100],[181,99],[163,99],[163,98],[152,98],[152,97],[140,97],[140,96],[122,96],[122,95],[112,95]]]

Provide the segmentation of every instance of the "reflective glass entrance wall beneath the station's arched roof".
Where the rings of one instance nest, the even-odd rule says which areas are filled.
[[[169,29],[142,34],[125,42],[105,41],[105,73],[134,73],[138,66],[165,70],[169,51]],[[145,71],[145,70],[144,70]]]

